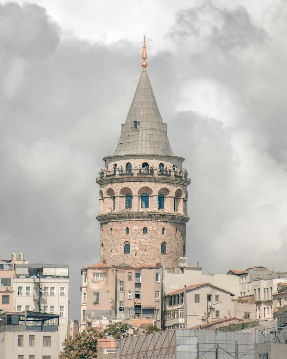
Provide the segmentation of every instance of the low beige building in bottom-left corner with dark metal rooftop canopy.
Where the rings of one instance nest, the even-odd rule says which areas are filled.
[[[0,313],[1,359],[58,359],[59,315]]]

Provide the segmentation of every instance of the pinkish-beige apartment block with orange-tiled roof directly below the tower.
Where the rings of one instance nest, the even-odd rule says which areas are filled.
[[[82,269],[81,330],[109,320],[150,319],[161,327],[162,269],[97,263]]]

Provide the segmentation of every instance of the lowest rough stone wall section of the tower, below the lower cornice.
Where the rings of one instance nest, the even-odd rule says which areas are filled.
[[[126,234],[126,228],[129,234]],[[147,234],[144,234],[144,228]],[[162,229],[165,228],[165,234]],[[112,230],[111,230],[112,229]],[[161,244],[166,244],[166,254],[161,254]],[[130,253],[124,254],[125,243],[130,244]],[[117,221],[101,226],[101,262],[118,265],[125,258],[131,266],[165,262],[166,267],[178,267],[179,257],[184,256],[185,224],[134,220]]]

